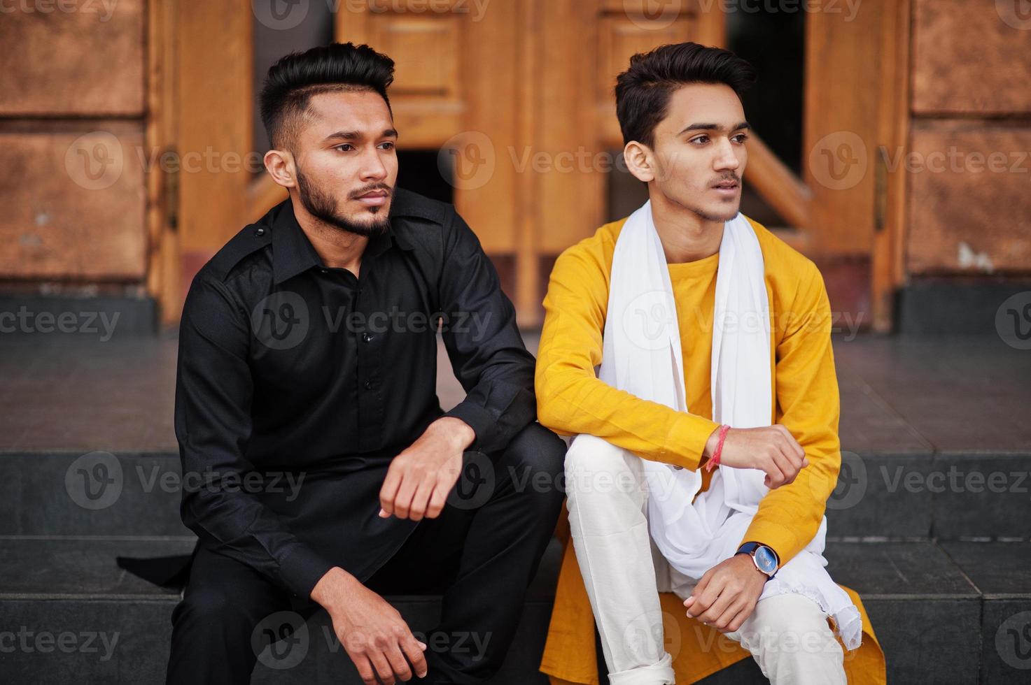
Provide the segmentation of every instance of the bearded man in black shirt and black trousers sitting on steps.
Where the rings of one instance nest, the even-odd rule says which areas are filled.
[[[269,70],[265,166],[290,199],[197,274],[179,329],[200,544],[170,683],[247,682],[265,628],[281,637],[263,621],[319,606],[367,683],[481,683],[554,530],[565,445],[534,422],[534,359],[475,235],[394,186],[392,80],[351,43]],[[438,320],[467,392],[446,413]],[[434,589],[428,646],[380,593]]]

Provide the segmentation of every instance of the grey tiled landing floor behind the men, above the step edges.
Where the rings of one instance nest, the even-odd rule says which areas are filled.
[[[536,350],[537,335],[526,334]],[[1031,453],[1031,354],[994,337],[836,339],[842,449]],[[0,450],[174,451],[174,334],[0,338]],[[446,354],[438,393],[462,397]]]

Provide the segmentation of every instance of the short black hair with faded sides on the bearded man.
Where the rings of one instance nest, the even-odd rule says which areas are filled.
[[[330,43],[291,53],[268,70],[261,91],[261,121],[272,145],[281,147],[300,129],[311,96],[373,91],[390,109],[387,89],[392,82],[394,60],[368,45]]]

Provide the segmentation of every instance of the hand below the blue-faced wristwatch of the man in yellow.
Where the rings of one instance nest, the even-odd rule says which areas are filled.
[[[706,571],[684,606],[688,616],[733,632],[752,615],[767,580],[751,556],[735,554]]]

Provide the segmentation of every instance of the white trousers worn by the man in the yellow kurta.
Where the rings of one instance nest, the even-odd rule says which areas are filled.
[[[681,600],[697,579],[673,569],[652,543],[641,458],[603,440],[576,440],[566,453],[569,524],[611,685],[675,683],[659,592]],[[685,610],[687,612],[687,610]],[[667,617],[670,625],[674,621]],[[843,653],[812,600],[768,596],[734,632],[773,685],[844,685]],[[675,636],[683,640],[702,636]],[[719,649],[712,642],[709,649]]]

